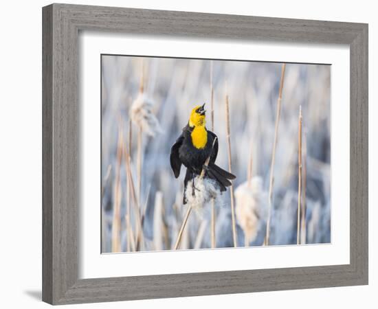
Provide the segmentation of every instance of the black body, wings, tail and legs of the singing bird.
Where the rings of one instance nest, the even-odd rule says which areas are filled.
[[[183,131],[170,151],[170,166],[177,178],[180,174],[181,164],[186,167],[186,175],[184,180],[184,204],[186,203],[186,185],[188,181],[193,181],[194,177],[201,174],[205,161],[210,157],[208,167],[205,168],[205,177],[213,179],[219,185],[221,192],[231,185],[229,179],[235,179],[233,174],[219,168],[215,165],[216,156],[218,155],[218,138],[210,130],[206,130],[208,135],[207,142],[203,148],[196,148],[192,143],[193,127],[189,124],[183,128]],[[215,142],[214,142],[215,139]]]

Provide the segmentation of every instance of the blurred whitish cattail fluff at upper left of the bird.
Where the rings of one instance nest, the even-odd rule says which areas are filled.
[[[159,121],[153,114],[153,101],[145,93],[139,93],[130,108],[131,119],[144,133],[155,136],[162,132]]]

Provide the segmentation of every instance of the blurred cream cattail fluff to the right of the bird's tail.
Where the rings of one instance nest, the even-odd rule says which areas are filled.
[[[244,231],[247,244],[256,239],[263,215],[263,181],[260,177],[246,181],[235,190],[236,220]]]

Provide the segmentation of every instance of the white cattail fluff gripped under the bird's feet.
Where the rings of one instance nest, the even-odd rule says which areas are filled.
[[[197,215],[202,217],[205,205],[210,203],[212,198],[216,200],[221,192],[214,180],[201,176],[194,178],[194,187],[193,195],[192,181],[190,180],[188,185],[186,185],[186,201],[188,206],[192,207],[192,209],[197,212]]]

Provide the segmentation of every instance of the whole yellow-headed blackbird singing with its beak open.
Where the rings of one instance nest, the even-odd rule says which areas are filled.
[[[196,106],[190,113],[188,124],[183,128],[180,137],[170,150],[170,166],[177,178],[180,174],[181,164],[186,166],[184,179],[184,204],[186,204],[186,186],[192,180],[192,195],[195,194],[194,179],[201,174],[206,159],[210,157],[205,168],[205,177],[213,179],[221,192],[231,185],[229,179],[236,176],[215,165],[218,155],[218,138],[205,127],[205,104]],[[213,141],[216,139],[214,146]]]

